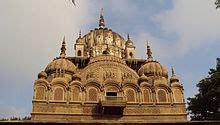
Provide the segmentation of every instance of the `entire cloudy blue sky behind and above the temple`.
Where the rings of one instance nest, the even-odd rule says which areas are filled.
[[[63,36],[67,54],[79,30],[98,27],[104,8],[106,27],[130,33],[136,57],[146,58],[150,41],[154,59],[174,66],[185,98],[197,93],[196,83],[215,68],[220,57],[220,12],[215,0],[5,0],[0,1],[0,118],[29,115],[33,83],[59,55]]]

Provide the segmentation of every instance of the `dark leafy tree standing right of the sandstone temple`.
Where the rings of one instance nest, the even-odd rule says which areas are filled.
[[[199,93],[187,99],[191,120],[220,120],[220,69],[208,74],[196,85]]]

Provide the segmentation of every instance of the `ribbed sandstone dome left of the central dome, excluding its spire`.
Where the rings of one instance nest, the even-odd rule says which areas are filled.
[[[46,73],[55,72],[56,70],[65,70],[66,72],[74,73],[76,66],[66,58],[56,58],[47,65]]]

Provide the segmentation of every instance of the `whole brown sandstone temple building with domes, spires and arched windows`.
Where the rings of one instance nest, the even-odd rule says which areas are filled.
[[[74,44],[75,56],[53,59],[34,82],[34,121],[158,122],[187,120],[183,86],[171,69],[154,60],[135,58],[129,35],[99,27]]]

